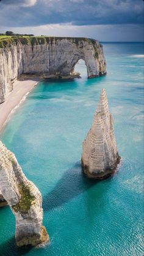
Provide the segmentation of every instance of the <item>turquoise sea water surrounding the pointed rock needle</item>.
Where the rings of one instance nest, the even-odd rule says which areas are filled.
[[[143,47],[104,44],[107,76],[40,82],[7,124],[1,139],[43,195],[51,244],[15,246],[15,217],[0,208],[1,256],[143,255]],[[81,172],[82,141],[106,88],[122,161],[111,179]]]

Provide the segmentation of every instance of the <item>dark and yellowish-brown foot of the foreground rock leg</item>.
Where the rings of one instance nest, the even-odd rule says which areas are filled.
[[[46,228],[43,226],[41,228],[41,235],[38,236],[26,236],[23,239],[16,241],[16,246],[39,246],[41,244],[47,244],[49,242],[49,235]]]

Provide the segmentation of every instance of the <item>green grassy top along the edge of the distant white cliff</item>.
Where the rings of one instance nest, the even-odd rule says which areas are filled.
[[[12,44],[26,45],[39,45],[48,44],[62,39],[72,40],[75,44],[79,44],[79,41],[87,41],[89,44],[95,44],[94,39],[88,39],[85,37],[48,37],[48,36],[32,36],[32,37],[13,37],[13,36],[0,36],[0,48],[10,47]]]

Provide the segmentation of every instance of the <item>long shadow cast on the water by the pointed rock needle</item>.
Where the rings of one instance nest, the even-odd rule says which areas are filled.
[[[57,182],[56,187],[43,196],[43,210],[51,211],[62,206],[75,196],[83,193],[88,188],[96,185],[98,181],[87,179],[82,173],[81,163],[77,162],[73,168],[68,169],[62,178]]]

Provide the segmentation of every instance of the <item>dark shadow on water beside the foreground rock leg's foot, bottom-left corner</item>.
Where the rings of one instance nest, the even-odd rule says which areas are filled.
[[[15,243],[15,236],[0,244],[1,256],[23,256],[27,255],[32,247],[18,248]]]

